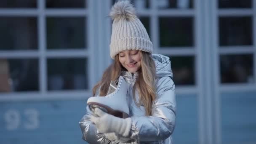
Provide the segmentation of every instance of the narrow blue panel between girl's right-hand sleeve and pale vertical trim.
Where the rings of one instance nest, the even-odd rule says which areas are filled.
[[[199,144],[197,96],[177,95],[176,128],[173,132],[175,144]],[[186,139],[184,139],[186,138]]]

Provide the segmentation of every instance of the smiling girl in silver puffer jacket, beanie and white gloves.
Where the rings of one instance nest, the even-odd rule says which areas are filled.
[[[130,113],[120,118],[87,107],[80,121],[83,139],[90,144],[172,144],[176,100],[171,62],[167,56],[152,54],[147,31],[128,0],[115,3],[110,16],[114,61],[93,88],[93,96],[112,93],[110,83],[122,76],[128,83]]]

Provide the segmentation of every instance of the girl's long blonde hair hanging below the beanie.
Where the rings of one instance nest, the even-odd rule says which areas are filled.
[[[146,110],[146,115],[151,115],[152,103],[155,100],[155,62],[149,53],[139,51],[141,57],[141,69],[138,71],[138,78],[133,87],[133,99],[135,98],[135,91],[139,93],[139,101],[135,101],[137,106],[143,105]],[[109,84],[117,80],[124,70],[120,64],[118,54],[115,56],[114,62],[104,71],[101,81],[93,88],[93,96],[100,87],[100,96],[106,96],[109,89]],[[126,70],[126,69],[125,69]]]

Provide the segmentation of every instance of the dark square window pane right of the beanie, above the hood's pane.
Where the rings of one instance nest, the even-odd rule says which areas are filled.
[[[160,17],[160,47],[193,46],[193,25],[192,17]]]

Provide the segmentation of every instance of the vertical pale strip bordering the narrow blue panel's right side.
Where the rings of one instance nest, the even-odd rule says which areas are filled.
[[[199,144],[205,144],[205,92],[204,85],[205,81],[203,78],[204,73],[204,41],[201,37],[204,37],[204,1],[203,0],[195,0],[194,8],[195,8],[195,21],[194,21],[194,40],[195,40],[195,51],[190,50],[190,54],[194,54],[195,56],[195,80],[196,85],[198,87],[198,139]],[[191,49],[191,48],[190,48]]]

